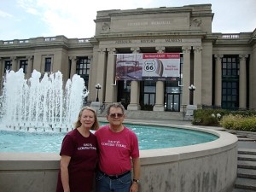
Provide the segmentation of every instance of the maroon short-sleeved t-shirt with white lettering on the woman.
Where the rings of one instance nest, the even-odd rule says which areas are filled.
[[[60,155],[71,157],[68,166],[71,192],[90,192],[98,159],[96,136],[90,133],[83,137],[77,129],[64,137]],[[63,192],[61,171],[59,172],[56,192]]]

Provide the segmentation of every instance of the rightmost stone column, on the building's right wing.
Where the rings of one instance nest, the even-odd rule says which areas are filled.
[[[239,55],[239,108],[247,108],[247,67],[248,55]]]

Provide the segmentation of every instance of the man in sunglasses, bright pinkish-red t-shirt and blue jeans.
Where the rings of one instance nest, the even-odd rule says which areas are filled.
[[[137,192],[140,177],[138,140],[136,134],[123,125],[124,106],[119,102],[110,104],[107,119],[109,125],[95,133],[100,152],[97,192]]]

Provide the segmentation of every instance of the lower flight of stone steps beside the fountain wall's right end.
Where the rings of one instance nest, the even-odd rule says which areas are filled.
[[[256,148],[238,149],[237,178],[232,192],[256,191]]]

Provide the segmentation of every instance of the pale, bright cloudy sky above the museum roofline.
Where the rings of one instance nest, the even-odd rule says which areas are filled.
[[[92,38],[96,12],[212,4],[212,32],[253,32],[256,0],[0,0],[0,40]]]

